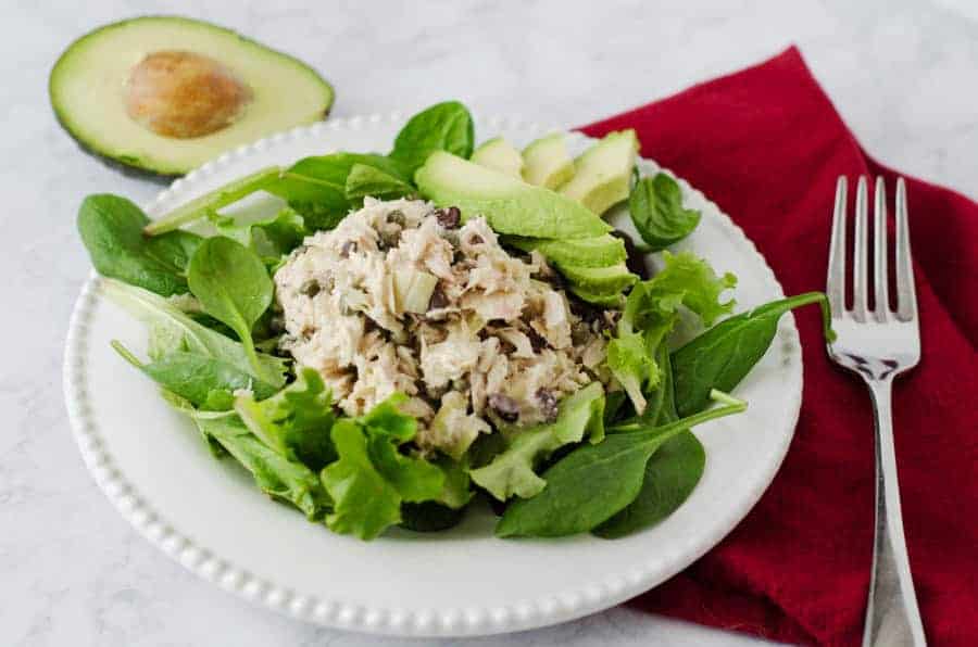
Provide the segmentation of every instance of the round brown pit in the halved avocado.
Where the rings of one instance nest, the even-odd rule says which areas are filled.
[[[202,54],[163,50],[129,73],[126,113],[143,128],[176,139],[216,132],[251,101],[251,89],[230,69]]]

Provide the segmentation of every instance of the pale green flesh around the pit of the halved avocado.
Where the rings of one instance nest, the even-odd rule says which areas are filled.
[[[147,54],[167,50],[213,59],[248,87],[249,101],[229,125],[179,139],[129,117],[120,88]],[[210,23],[171,16],[133,18],[83,36],[54,64],[49,93],[59,122],[83,148],[171,176],[273,132],[322,119],[334,97],[315,71],[287,54]]]

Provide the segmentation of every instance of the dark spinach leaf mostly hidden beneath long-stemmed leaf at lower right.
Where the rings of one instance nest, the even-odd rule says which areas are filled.
[[[668,350],[660,346],[656,357],[662,367],[662,381],[650,395],[645,419],[662,426],[678,420],[673,396],[673,378]],[[653,404],[654,403],[654,404]],[[703,475],[706,452],[691,431],[667,440],[645,464],[642,487],[635,500],[594,529],[604,538],[622,537],[659,523],[689,498]]]

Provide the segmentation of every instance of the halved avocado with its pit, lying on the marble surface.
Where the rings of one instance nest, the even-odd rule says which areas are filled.
[[[48,90],[58,120],[84,149],[164,176],[319,120],[334,99],[301,61],[177,16],[86,34],[54,64]]]

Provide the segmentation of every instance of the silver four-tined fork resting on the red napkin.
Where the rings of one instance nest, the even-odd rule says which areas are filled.
[[[852,254],[853,306],[852,309],[845,308],[845,177],[840,177],[836,187],[826,287],[832,309],[832,328],[837,338],[828,344],[828,354],[836,364],[863,378],[873,395],[876,415],[876,531],[863,646],[923,646],[926,645],[924,623],[917,609],[914,581],[903,536],[890,410],[893,378],[915,367],[920,359],[917,297],[914,291],[906,214],[906,186],[903,178],[896,180],[895,310],[889,305],[887,194],[881,177],[876,178],[874,204],[875,304],[870,309],[868,191],[866,178],[860,177],[853,227],[855,239]]]

